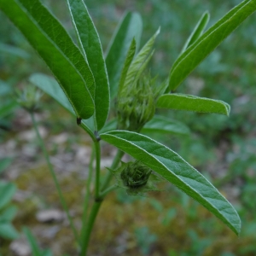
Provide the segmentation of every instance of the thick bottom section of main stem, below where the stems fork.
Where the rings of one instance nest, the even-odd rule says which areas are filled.
[[[88,248],[89,241],[90,241],[90,233],[91,233],[91,230],[95,223],[96,216],[100,210],[101,205],[102,205],[102,201],[95,201],[91,208],[90,216],[89,216],[89,219],[87,221],[87,224],[86,224],[85,230],[84,230],[85,236],[84,236],[84,240],[82,243],[82,250],[81,250],[80,256],[86,256],[87,248]]]

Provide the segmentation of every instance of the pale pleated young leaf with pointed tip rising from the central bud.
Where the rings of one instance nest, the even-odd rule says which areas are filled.
[[[128,69],[125,84],[123,88],[129,88],[131,84],[137,83],[144,69],[146,68],[148,61],[150,61],[154,51],[152,51],[154,40],[160,33],[160,29],[154,33],[154,36],[148,40],[148,42],[143,46],[143,49],[137,54],[135,59],[131,62],[131,66]]]

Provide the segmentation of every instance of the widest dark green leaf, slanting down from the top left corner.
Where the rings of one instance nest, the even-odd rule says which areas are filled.
[[[59,21],[38,0],[0,0],[0,9],[44,59],[76,115],[90,118],[94,113],[93,75]]]

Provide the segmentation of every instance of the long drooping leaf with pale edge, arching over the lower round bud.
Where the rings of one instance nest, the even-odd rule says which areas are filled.
[[[105,142],[142,161],[144,165],[176,185],[178,189],[221,219],[236,234],[240,232],[241,221],[230,202],[206,177],[170,148],[131,131],[110,131],[102,134],[101,137]]]

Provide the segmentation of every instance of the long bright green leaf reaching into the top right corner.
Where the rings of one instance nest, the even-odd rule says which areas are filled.
[[[245,0],[205,32],[174,62],[169,75],[169,90],[176,90],[183,79],[224,41],[237,26],[256,10],[255,0]]]

